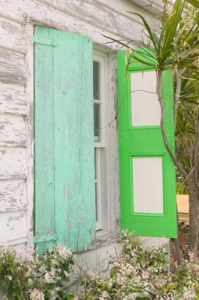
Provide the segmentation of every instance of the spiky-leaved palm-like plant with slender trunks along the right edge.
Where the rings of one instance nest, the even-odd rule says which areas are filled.
[[[129,43],[116,41],[128,48],[127,69],[132,58],[157,71],[157,96],[161,107],[161,131],[164,145],[181,178],[189,188],[189,249],[199,257],[199,3],[198,0],[175,0],[173,6],[164,0],[162,29],[159,36],[150,29],[144,17],[148,42],[132,41],[144,48],[130,48]],[[170,8],[168,7],[170,6]],[[173,71],[175,124],[175,153],[164,128],[162,72]]]

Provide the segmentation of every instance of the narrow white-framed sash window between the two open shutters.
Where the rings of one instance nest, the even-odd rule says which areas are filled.
[[[94,147],[96,230],[107,230],[106,116],[107,54],[94,50]],[[106,213],[105,213],[106,212]]]

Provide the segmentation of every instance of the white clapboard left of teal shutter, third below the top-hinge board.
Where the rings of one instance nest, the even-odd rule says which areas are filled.
[[[26,147],[24,117],[0,115],[0,147]]]

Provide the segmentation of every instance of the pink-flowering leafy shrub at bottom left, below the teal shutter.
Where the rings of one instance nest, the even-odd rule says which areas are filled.
[[[9,247],[0,247],[0,290],[6,299],[74,299],[69,293],[73,254],[64,246],[51,247],[42,259],[34,253],[18,256]]]

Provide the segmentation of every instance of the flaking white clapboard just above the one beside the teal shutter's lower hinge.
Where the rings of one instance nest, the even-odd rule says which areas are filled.
[[[0,213],[27,208],[26,182],[21,180],[0,181]]]

